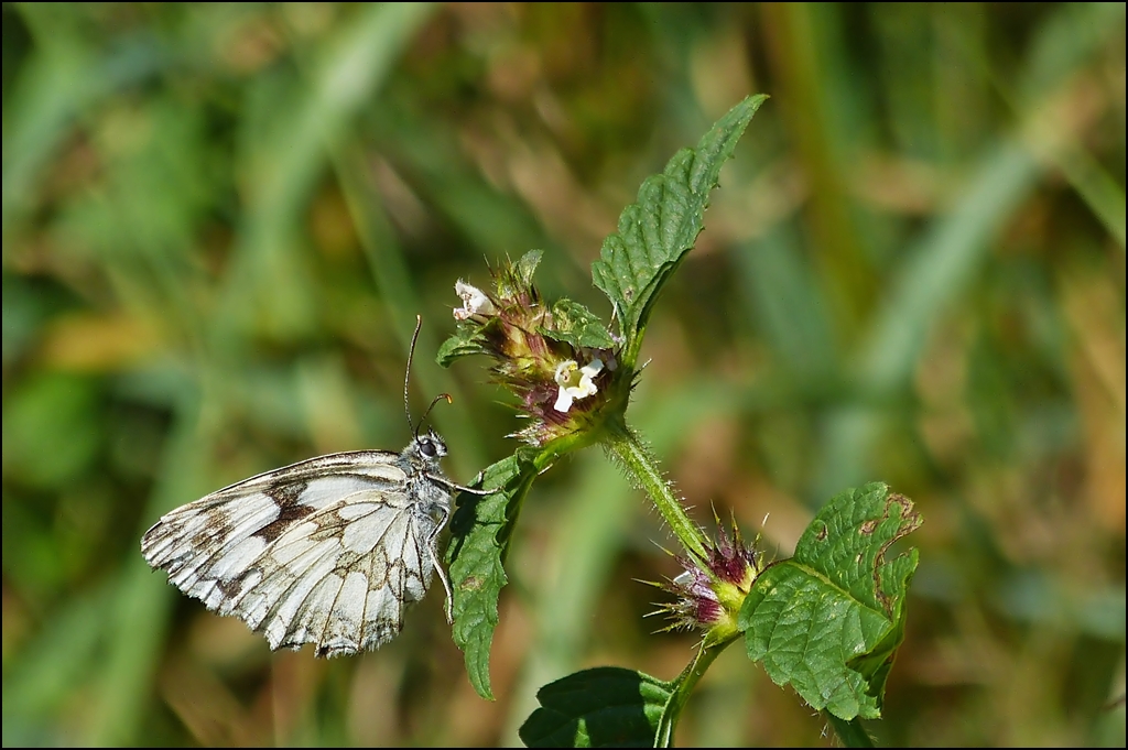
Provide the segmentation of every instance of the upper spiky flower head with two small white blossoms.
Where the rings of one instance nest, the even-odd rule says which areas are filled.
[[[439,353],[443,364],[465,354],[490,356],[493,380],[517,395],[530,420],[515,436],[535,445],[591,429],[609,403],[629,392],[628,379],[624,385],[616,373],[617,343],[599,320],[570,300],[544,302],[532,284],[539,261],[532,252],[492,268],[488,291],[459,280],[458,333]]]

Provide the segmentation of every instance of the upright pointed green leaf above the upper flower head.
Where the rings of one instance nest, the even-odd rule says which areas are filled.
[[[633,368],[651,307],[705,226],[710,193],[766,95],[729,111],[696,149],[681,149],[661,175],[647,177],[638,201],[619,215],[618,232],[603,240],[592,280],[611,301],[625,337],[623,362]]]

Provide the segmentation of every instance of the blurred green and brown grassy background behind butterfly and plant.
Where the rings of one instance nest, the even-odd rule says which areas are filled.
[[[545,295],[608,315],[618,212],[763,91],[633,423],[773,554],[845,487],[916,501],[882,743],[1123,747],[1123,3],[2,12],[6,745],[512,744],[573,670],[675,677],[694,637],[635,581],[672,542],[598,451],[526,503],[492,704],[438,593],[379,652],[271,654],[138,544],[252,474],[403,447],[416,314],[449,474],[506,456],[504,395],[433,362],[455,281],[543,248]],[[679,744],[832,744],[740,651]]]

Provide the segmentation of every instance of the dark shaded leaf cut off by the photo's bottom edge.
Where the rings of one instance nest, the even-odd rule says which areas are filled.
[[[650,748],[672,687],[619,667],[598,667],[549,682],[521,725],[530,748]]]

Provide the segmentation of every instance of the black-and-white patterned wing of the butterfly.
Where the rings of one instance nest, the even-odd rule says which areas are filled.
[[[414,502],[399,459],[334,453],[252,477],[170,511],[141,552],[184,593],[263,632],[271,648],[378,647],[426,593],[444,521]]]

